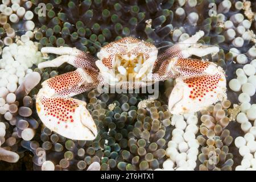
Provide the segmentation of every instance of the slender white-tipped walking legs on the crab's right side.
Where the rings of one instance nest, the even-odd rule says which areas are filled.
[[[154,70],[157,71],[160,65],[167,59],[174,57],[179,58],[188,58],[192,55],[202,57],[210,53],[216,53],[219,51],[219,48],[216,46],[212,47],[201,47],[201,44],[196,44],[198,40],[204,36],[204,31],[199,31],[191,38],[184,40],[183,42],[177,43],[175,46],[172,46],[166,49],[163,53],[158,56],[158,59],[155,62]]]

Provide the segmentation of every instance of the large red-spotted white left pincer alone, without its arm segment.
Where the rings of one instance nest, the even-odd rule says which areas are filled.
[[[60,108],[57,109],[56,108]],[[38,98],[36,110],[44,125],[63,137],[93,140],[97,127],[86,109],[86,103],[73,98]]]

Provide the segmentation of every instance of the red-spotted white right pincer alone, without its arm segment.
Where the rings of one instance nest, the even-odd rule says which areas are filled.
[[[198,83],[198,84],[197,84]],[[226,79],[223,75],[176,79],[169,98],[172,114],[194,113],[225,98]]]

